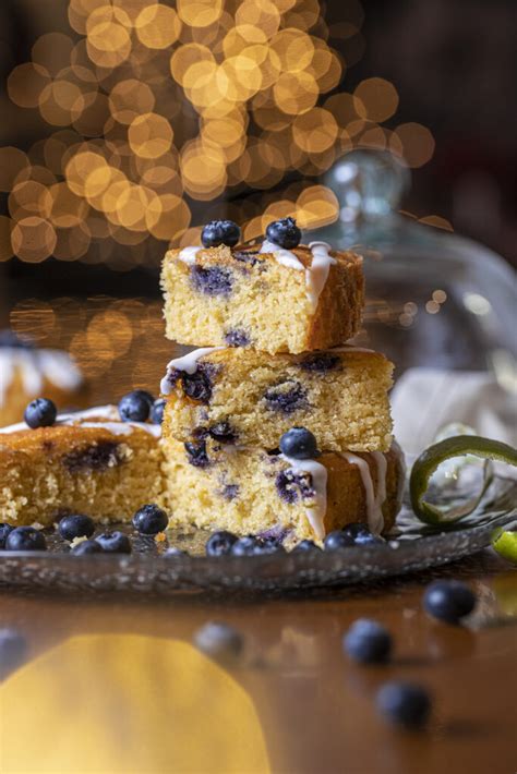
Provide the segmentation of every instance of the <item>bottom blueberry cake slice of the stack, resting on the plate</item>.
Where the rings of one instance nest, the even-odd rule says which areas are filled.
[[[214,439],[164,438],[171,525],[321,542],[349,523],[388,531],[400,507],[402,460],[387,452],[292,459]]]

